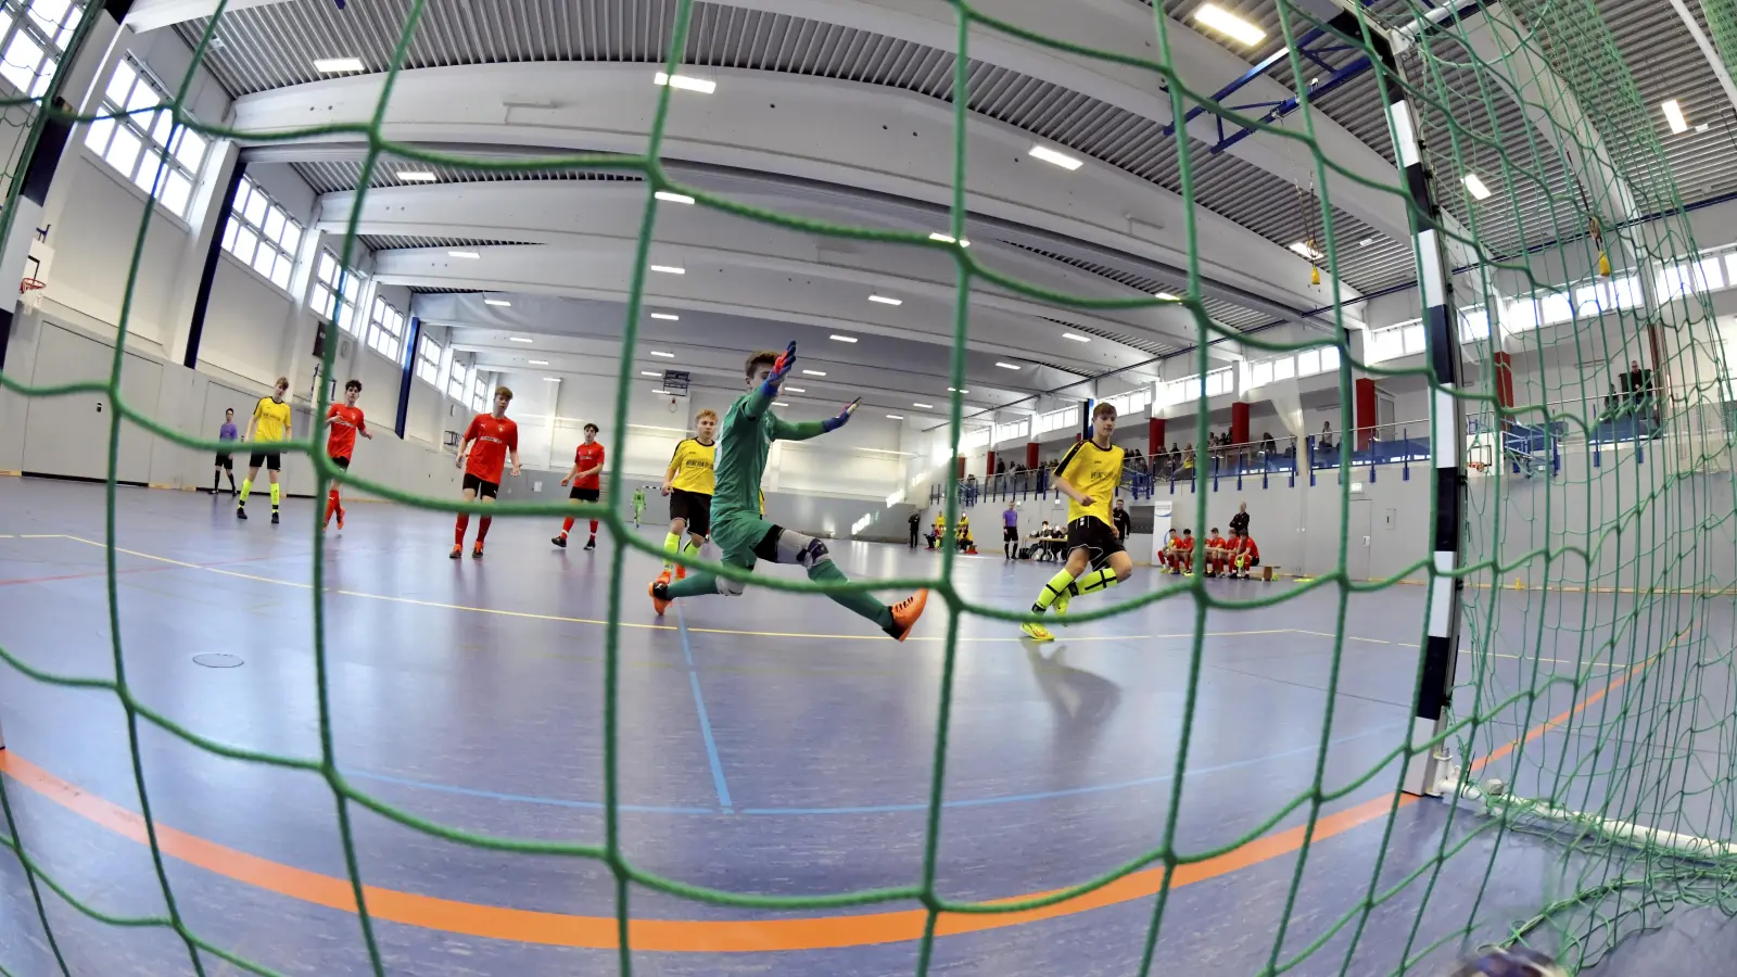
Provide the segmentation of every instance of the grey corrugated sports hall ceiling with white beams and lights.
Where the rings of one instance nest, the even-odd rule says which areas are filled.
[[[1190,17],[1200,0],[1157,2],[1169,16],[1171,57],[1197,90],[1216,90],[1249,64],[1284,50],[1275,0],[1219,0],[1266,30],[1266,42],[1252,50],[1197,28]],[[141,0],[135,10],[144,9],[151,24],[172,23],[188,43],[196,43],[205,21],[186,17],[208,14],[212,7]],[[365,120],[410,9],[412,0],[353,0],[344,10],[330,0],[266,0],[224,16],[217,28],[221,43],[208,52],[207,64],[236,96],[236,125],[243,129]],[[1080,43],[1153,56],[1152,42],[1141,42],[1153,37],[1150,7],[1133,0],[1068,5],[990,0],[980,9]],[[1377,17],[1409,9],[1416,3],[1370,5]],[[1699,16],[1697,3],[1690,9]],[[431,0],[408,43],[386,134],[483,160],[641,151],[650,122],[646,108],[658,92],[646,83],[648,73],[667,56],[676,10],[676,0]],[[1671,3],[1600,0],[1600,10],[1643,101],[1676,97],[1692,125],[1707,125],[1673,137],[1662,120],[1645,120],[1659,130],[1683,200],[1737,189],[1737,170],[1728,165],[1737,132],[1730,125],[1732,103]],[[1025,160],[1020,167],[1002,167],[1013,172],[1002,174],[1007,181],[995,184],[994,195],[985,195],[995,196],[994,205],[980,203],[980,179],[973,172],[968,181],[973,254],[1007,275],[1082,296],[1181,292],[1186,214],[1179,207],[1176,141],[1166,136],[1171,103],[1160,80],[987,31],[974,31],[969,43],[973,163],[985,156],[983,146],[1023,150],[1034,141],[1087,160],[1086,169],[1067,177],[1075,183],[1060,191],[1056,172],[1046,163]],[[670,92],[667,172],[686,186],[783,214],[867,228],[947,229],[954,50],[952,7],[941,2],[926,7],[898,0],[693,3],[683,61],[697,76],[716,80],[717,92]],[[365,73],[321,75],[313,66],[316,57],[360,57]],[[1325,57],[1336,64],[1332,59],[1343,61],[1346,54]],[[627,87],[627,76],[639,87]],[[1536,151],[1537,130],[1513,101],[1496,99],[1494,111],[1485,110],[1473,101],[1478,87],[1470,73],[1452,68],[1443,70],[1440,85],[1461,125],[1499,139],[1542,184],[1516,181],[1511,207],[1476,209],[1463,193],[1443,200],[1461,224],[1475,226],[1489,252],[1515,254],[1523,243],[1537,245],[1558,228],[1582,223],[1562,217],[1560,200],[1572,198],[1575,188],[1553,153]],[[585,96],[575,99],[575,90]],[[1292,90],[1289,59],[1280,57],[1237,99],[1278,99]],[[625,108],[615,116],[599,115],[578,104],[585,97]],[[794,111],[780,120],[801,120],[809,129],[842,130],[851,116],[884,118],[886,136],[879,141],[889,148],[829,148],[829,141],[849,143],[841,132],[835,139],[811,139],[801,150],[768,144],[756,155],[752,113],[761,113],[756,99],[771,108],[782,99]],[[419,101],[429,108],[413,108]],[[486,103],[492,115],[471,103]],[[818,106],[818,115],[802,115],[804,103],[808,110]],[[835,113],[830,118],[829,110]],[[1322,97],[1317,110],[1324,151],[1357,172],[1393,183],[1393,150],[1372,73]],[[742,144],[697,136],[709,125],[721,127],[714,132],[740,127]],[[900,143],[903,132],[895,129],[912,129],[912,137],[922,132],[926,141]],[[1188,130],[1193,195],[1200,205],[1195,217],[1202,292],[1212,320],[1232,330],[1320,323],[1332,290],[1310,287],[1308,263],[1285,250],[1311,231],[1320,235],[1313,160],[1296,143],[1268,136],[1207,153],[1216,139],[1209,122],[1195,120]],[[327,137],[273,143],[254,153],[301,172],[321,195],[323,228],[347,224],[363,183],[365,146]],[[1473,165],[1499,172],[1497,155],[1485,153],[1487,160],[1475,151],[1468,156]],[[575,349],[603,342],[610,309],[618,341],[644,195],[636,174],[417,163],[415,169],[433,170],[436,183],[406,184],[396,177],[403,169],[408,165],[386,160],[372,174],[361,203],[361,243],[375,252],[382,280],[424,294],[419,311],[438,311],[438,320],[467,327],[464,341],[483,353],[485,365],[525,358],[523,349],[507,346],[502,330],[565,334]],[[1619,183],[1612,177],[1612,184]],[[1558,196],[1555,210],[1549,195]],[[1640,198],[1635,209],[1648,203],[1645,193],[1633,196]],[[1126,207],[1126,226],[1080,217],[1089,210],[1087,198],[1112,210]],[[1397,198],[1341,181],[1332,186],[1332,200],[1341,297],[1355,299],[1416,278]],[[938,252],[825,238],[679,205],[658,207],[655,242],[653,261],[658,247],[679,245],[688,264],[716,271],[716,276],[648,276],[648,306],[667,306],[683,316],[681,329],[670,327],[664,336],[669,341],[693,339],[703,329],[705,346],[721,349],[730,342],[775,344],[768,339],[782,334],[813,334],[823,341],[830,332],[851,332],[881,341],[855,344],[851,356],[829,370],[829,381],[841,388],[860,372],[865,389],[879,389],[867,381],[884,381],[886,370],[912,369],[912,362],[936,363],[945,372],[954,268]],[[481,257],[448,259],[446,250],[460,245]],[[896,311],[868,306],[862,296],[870,289],[903,289],[908,301]],[[483,306],[483,292],[512,296],[514,313],[535,309],[547,318],[514,315],[502,322],[500,315],[488,315],[499,309]],[[436,296],[446,297],[434,301]],[[1344,315],[1357,325],[1360,306],[1346,306]],[[1120,370],[1103,389],[1115,393],[1153,377],[1153,356],[1185,349],[1197,336],[1192,318],[1176,309],[1082,311],[987,283],[973,292],[971,316],[968,388],[973,393],[966,402],[978,409],[1108,370]],[[1063,332],[1089,342],[1067,341]],[[1211,355],[1235,358],[1238,351],[1233,342],[1219,342]],[[738,360],[740,348],[728,353],[719,362]],[[1018,358],[1025,369],[1014,374],[995,367],[1004,358]],[[648,370],[665,365],[670,363],[644,360]],[[693,365],[702,369],[698,362]],[[870,376],[874,370],[881,372]],[[726,376],[728,370],[719,379]],[[888,389],[886,407],[900,407],[895,400],[910,393],[898,384]],[[940,395],[945,396],[945,386]]]

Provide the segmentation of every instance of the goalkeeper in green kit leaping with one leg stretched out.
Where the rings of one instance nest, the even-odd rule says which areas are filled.
[[[712,494],[712,542],[723,549],[723,563],[752,570],[756,560],[773,563],[799,563],[809,581],[846,582],[849,577],[832,565],[827,544],[799,532],[773,525],[759,511],[759,483],[766,471],[766,455],[775,440],[804,442],[842,428],[858,402],[825,421],[790,424],[771,412],[778,384],[796,363],[796,342],[780,353],[754,353],[743,369],[749,393],[730,412],[717,433],[717,459],[714,471],[717,487]],[[651,607],[664,614],[669,603],[683,596],[721,593],[740,596],[745,584],[695,570],[688,579],[651,584]],[[929,591],[922,589],[900,603],[888,607],[863,591],[829,593],[834,601],[874,621],[882,631],[903,641],[922,617]]]

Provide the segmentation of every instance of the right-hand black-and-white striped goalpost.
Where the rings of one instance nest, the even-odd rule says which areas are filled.
[[[1400,43],[1407,38],[1400,37]],[[1376,57],[1390,78],[1403,80],[1398,50],[1386,37],[1374,38]],[[1440,207],[1430,193],[1431,176],[1423,163],[1417,116],[1398,83],[1386,87],[1388,125],[1398,150],[1400,176],[1412,200],[1412,247],[1417,252],[1417,290],[1423,297],[1424,356],[1435,370],[1431,389],[1431,454],[1435,455],[1435,525],[1433,565],[1430,575],[1430,629],[1423,641],[1423,671],[1417,681],[1410,742],[1428,742],[1447,728],[1449,699],[1454,692],[1454,664],[1459,654],[1461,523],[1466,508],[1466,421],[1459,389],[1459,323],[1454,313],[1447,242],[1436,229]],[[1424,221],[1421,216],[1428,216]],[[1438,782],[1449,763],[1445,744],[1424,749],[1405,765],[1403,789],[1409,794],[1440,794]]]

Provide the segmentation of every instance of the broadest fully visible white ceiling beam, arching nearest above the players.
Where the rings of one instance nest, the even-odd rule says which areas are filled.
[[[648,71],[598,63],[406,71],[396,82],[380,134],[406,144],[643,153],[664,92]],[[853,82],[764,71],[705,75],[719,80],[716,94],[670,92],[667,160],[763,170],[940,207],[952,202],[954,118],[945,104]],[[236,101],[234,127],[281,136],[309,125],[365,123],[380,82],[377,75],[346,76],[247,96]],[[825,139],[816,139],[818,132]],[[1190,212],[1178,195],[1103,163],[1065,172],[1037,162],[1027,156],[1034,143],[1028,134],[983,116],[971,116],[966,134],[966,203],[973,214],[1188,266]],[[285,151],[278,148],[273,158],[285,158]],[[1192,217],[1204,276],[1287,308],[1315,302],[1299,285],[1308,282],[1304,259],[1205,209],[1195,207]],[[1341,292],[1357,297],[1353,289]]]

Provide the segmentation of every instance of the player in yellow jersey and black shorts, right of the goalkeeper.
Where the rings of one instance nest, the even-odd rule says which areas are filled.
[[[1100,403],[1091,412],[1091,440],[1068,449],[1056,466],[1054,487],[1068,497],[1068,562],[1044,584],[1032,614],[1051,607],[1067,614],[1068,600],[1113,588],[1134,572],[1110,515],[1110,495],[1122,483],[1122,449],[1110,443],[1113,433],[1115,407]],[[1035,621],[1020,629],[1035,641],[1056,640]]]

